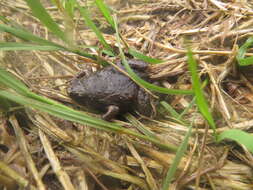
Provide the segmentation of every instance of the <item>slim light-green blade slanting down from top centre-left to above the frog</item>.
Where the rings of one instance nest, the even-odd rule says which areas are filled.
[[[94,22],[91,20],[90,17],[90,13],[88,11],[87,8],[83,8],[81,7],[78,3],[77,3],[77,7],[80,10],[81,15],[83,16],[86,25],[91,28],[93,30],[93,32],[97,35],[99,41],[103,44],[103,46],[105,47],[105,49],[109,52],[111,52],[111,56],[114,56],[113,53],[113,49],[110,47],[110,45],[105,41],[102,33],[99,31],[99,29],[97,28],[97,26],[94,24]]]

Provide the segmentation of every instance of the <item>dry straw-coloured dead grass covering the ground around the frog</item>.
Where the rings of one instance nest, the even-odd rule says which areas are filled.
[[[150,66],[150,76],[162,79],[165,86],[191,88],[184,46],[185,39],[190,40],[199,74],[210,81],[206,96],[217,132],[230,128],[251,131],[253,67],[240,70],[235,60],[238,46],[253,34],[250,0],[108,0],[108,4],[117,10],[121,33],[129,46],[166,60]],[[48,10],[63,25],[57,10]],[[0,11],[34,34],[57,40],[31,16],[23,1],[2,0]],[[95,9],[94,18],[104,31],[108,29]],[[74,25],[74,41],[98,43],[78,15]],[[19,41],[6,33],[0,33],[0,38]],[[113,35],[106,34],[106,39],[115,46]],[[249,51],[248,55],[252,54]],[[16,73],[33,91],[66,104],[70,103],[66,82],[81,69],[89,68],[87,65],[94,66],[66,52],[0,52],[0,58],[1,66]],[[191,102],[189,96],[169,99],[178,111]],[[212,130],[195,106],[184,120],[193,120],[194,131],[170,189],[253,189],[252,154],[236,144],[215,144]],[[169,116],[140,121],[176,146],[188,130],[188,126]],[[136,129],[130,122],[123,123]],[[29,184],[28,189],[155,190],[160,189],[174,156],[138,139],[94,130],[35,110],[20,110],[11,117],[2,115],[0,120],[0,189],[4,189],[2,185],[15,189],[17,184]]]

